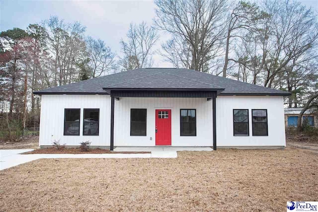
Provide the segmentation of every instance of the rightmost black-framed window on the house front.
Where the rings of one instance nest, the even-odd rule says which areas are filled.
[[[252,110],[253,136],[268,136],[267,110]]]

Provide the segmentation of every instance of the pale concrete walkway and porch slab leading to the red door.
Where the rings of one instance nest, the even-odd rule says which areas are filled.
[[[20,154],[34,149],[0,150],[0,170],[40,158],[176,158],[177,151],[212,151],[210,147],[116,147],[114,151],[151,151],[146,154]]]

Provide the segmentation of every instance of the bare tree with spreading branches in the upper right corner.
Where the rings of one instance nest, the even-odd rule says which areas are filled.
[[[258,30],[264,86],[273,87],[275,77],[284,67],[317,47],[318,22],[312,9],[296,1],[266,0],[263,9],[269,14],[264,27]]]

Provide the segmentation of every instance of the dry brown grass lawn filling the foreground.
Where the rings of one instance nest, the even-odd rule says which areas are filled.
[[[40,159],[0,172],[0,211],[286,211],[318,200],[317,170],[296,148]]]

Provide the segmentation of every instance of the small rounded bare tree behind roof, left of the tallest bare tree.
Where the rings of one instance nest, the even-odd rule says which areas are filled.
[[[123,71],[152,66],[153,48],[158,41],[157,31],[147,26],[146,22],[139,25],[130,24],[127,41],[120,41],[123,56],[119,65]]]

